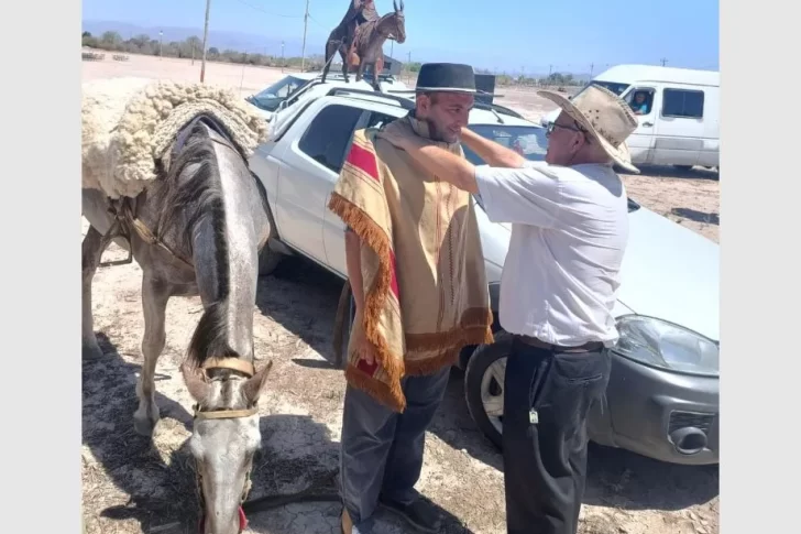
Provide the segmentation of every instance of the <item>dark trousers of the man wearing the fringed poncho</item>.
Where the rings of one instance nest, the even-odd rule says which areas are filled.
[[[402,381],[406,410],[398,414],[361,390],[344,393],[340,491],[354,534],[370,532],[378,495],[408,504],[417,498],[426,428],[448,386],[450,368]]]

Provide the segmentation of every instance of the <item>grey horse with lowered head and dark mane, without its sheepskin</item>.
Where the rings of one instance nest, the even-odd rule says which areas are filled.
[[[133,229],[131,217],[112,215],[102,193],[83,189],[83,214],[91,227],[83,242],[81,338],[85,359],[102,355],[92,328],[91,280],[112,238],[127,236],[143,272],[145,323],[133,422],[139,434],[150,436],[158,421],[153,379],[165,344],[167,301],[200,295],[205,312],[182,366],[197,402],[189,449],[201,487],[202,532],[234,534],[241,532],[240,504],[261,445],[255,406],[271,368],[253,368],[259,253],[271,227],[264,189],[217,130],[208,120],[185,127],[186,140],[169,168],[135,199],[134,218],[151,235]],[[116,240],[128,249],[125,240]]]

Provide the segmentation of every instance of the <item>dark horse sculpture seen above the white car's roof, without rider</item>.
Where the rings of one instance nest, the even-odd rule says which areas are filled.
[[[326,65],[322,68],[322,81],[331,67],[331,58],[336,52],[342,57],[342,76],[348,81],[348,69],[351,64],[350,52],[359,57],[356,81],[364,76],[367,64],[373,66],[373,88],[380,90],[378,73],[384,68],[384,42],[392,36],[398,44],[406,42],[406,21],[404,0],[398,9],[393,0],[394,12],[381,17],[377,21],[365,22],[353,30],[353,24],[340,24],[328,35],[326,43]]]

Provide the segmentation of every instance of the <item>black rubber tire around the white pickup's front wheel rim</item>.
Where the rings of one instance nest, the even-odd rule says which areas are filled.
[[[492,424],[484,410],[484,403],[481,400],[481,382],[490,366],[508,356],[511,346],[512,336],[508,333],[498,331],[495,334],[494,344],[481,345],[475,349],[464,371],[464,399],[468,403],[470,416],[484,436],[498,449],[502,448],[502,435]],[[503,386],[503,384],[500,385]]]

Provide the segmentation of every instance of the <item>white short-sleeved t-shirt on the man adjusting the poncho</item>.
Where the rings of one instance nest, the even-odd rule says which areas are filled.
[[[512,224],[501,326],[567,347],[614,345],[628,200],[612,166],[482,165],[475,179],[490,220]]]

